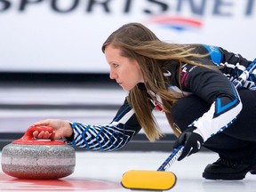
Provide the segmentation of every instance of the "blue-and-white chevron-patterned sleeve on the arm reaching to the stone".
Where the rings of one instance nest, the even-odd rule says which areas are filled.
[[[68,141],[69,144],[78,148],[102,151],[123,148],[141,128],[127,100],[124,100],[123,106],[119,108],[110,124],[70,124],[74,134],[72,140]]]

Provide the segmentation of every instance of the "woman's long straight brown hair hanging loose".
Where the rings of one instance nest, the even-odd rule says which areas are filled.
[[[135,115],[146,133],[148,140],[154,141],[159,139],[163,133],[156,124],[155,116],[148,101],[148,94],[156,100],[156,96],[147,92],[155,92],[162,100],[165,116],[171,125],[172,131],[176,136],[180,135],[172,123],[172,105],[176,100],[183,97],[183,94],[168,91],[167,80],[164,77],[164,65],[168,63],[189,63],[193,65],[202,65],[191,60],[192,57],[204,57],[193,53],[195,49],[186,44],[169,44],[160,41],[157,36],[148,28],[140,23],[128,23],[118,28],[102,45],[102,52],[109,45],[120,48],[122,55],[127,58],[136,60],[142,71],[145,81],[146,90],[137,86],[132,88],[128,95],[128,101],[134,109]]]

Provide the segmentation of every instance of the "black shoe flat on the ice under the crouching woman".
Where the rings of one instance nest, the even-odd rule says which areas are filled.
[[[203,178],[206,180],[243,180],[247,172],[256,174],[256,163],[245,164],[219,158],[215,163],[205,167]]]

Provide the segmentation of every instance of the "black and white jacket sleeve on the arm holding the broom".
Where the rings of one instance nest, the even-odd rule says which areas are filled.
[[[180,73],[182,89],[211,104],[211,108],[190,126],[197,129],[205,140],[222,132],[236,119],[242,103],[234,85],[220,71],[183,65]]]

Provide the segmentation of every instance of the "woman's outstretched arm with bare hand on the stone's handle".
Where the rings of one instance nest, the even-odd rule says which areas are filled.
[[[56,139],[65,138],[73,146],[108,151],[124,147],[141,128],[127,100],[110,124],[91,125],[48,119],[35,125],[40,124],[51,126]],[[49,132],[34,132],[34,137],[48,139],[51,135]]]

